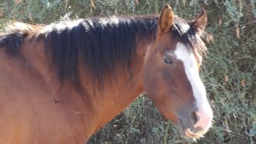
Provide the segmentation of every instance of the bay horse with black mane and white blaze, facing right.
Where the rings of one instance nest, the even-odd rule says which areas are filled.
[[[142,93],[180,134],[202,137],[213,118],[198,74],[206,20],[166,5],[160,15],[13,23],[0,36],[0,143],[85,143]]]

